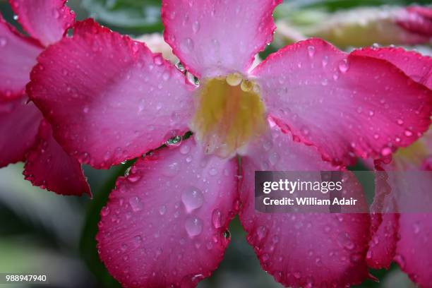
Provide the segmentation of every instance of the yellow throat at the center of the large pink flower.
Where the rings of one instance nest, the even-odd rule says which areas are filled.
[[[203,81],[191,130],[206,153],[232,157],[265,127],[265,107],[252,80],[233,73]]]

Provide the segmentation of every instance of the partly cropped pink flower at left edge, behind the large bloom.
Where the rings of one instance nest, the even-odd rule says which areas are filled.
[[[25,85],[36,57],[63,37],[75,15],[65,0],[11,0],[19,23],[31,37],[16,31],[0,15],[0,167],[25,160],[23,174],[35,186],[64,195],[90,194],[80,163],[52,137],[52,129]]]

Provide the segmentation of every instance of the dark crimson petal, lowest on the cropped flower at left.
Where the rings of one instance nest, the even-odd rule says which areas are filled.
[[[42,120],[36,143],[26,157],[23,174],[33,185],[61,195],[91,196],[80,163],[54,140],[47,121]]]

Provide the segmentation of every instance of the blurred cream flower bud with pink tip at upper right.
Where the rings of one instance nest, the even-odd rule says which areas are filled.
[[[304,17],[312,21],[307,25],[294,17],[279,20],[276,39],[287,43],[302,37],[321,37],[342,48],[375,43],[428,44],[432,40],[432,8],[428,6],[361,7],[336,13],[315,11],[314,16],[309,19],[306,13]]]

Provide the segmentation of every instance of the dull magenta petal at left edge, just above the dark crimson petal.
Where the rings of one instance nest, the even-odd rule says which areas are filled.
[[[27,97],[0,102],[0,167],[23,161],[35,143],[42,114]]]

